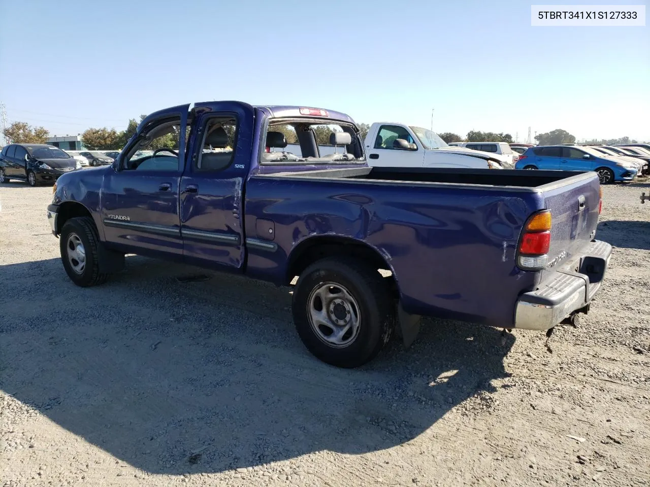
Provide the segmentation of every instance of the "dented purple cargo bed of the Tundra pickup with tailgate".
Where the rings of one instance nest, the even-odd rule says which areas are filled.
[[[526,219],[551,210],[553,266],[593,240],[598,219],[593,172],[296,169],[247,182],[246,237],[266,240],[256,221],[272,221],[276,251],[249,249],[246,272],[287,282],[287,262],[305,242],[363,242],[385,260],[412,314],[510,327],[517,297],[554,271],[517,267]]]

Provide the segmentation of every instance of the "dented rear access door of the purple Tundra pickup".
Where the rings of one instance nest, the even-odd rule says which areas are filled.
[[[185,262],[242,269],[244,181],[250,168],[254,110],[237,102],[194,105],[194,131],[181,178]]]

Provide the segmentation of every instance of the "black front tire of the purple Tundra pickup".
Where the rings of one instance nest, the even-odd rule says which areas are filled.
[[[73,236],[75,236],[74,239],[72,238]],[[85,254],[84,266],[81,271],[79,271],[79,267],[75,270],[74,260],[69,254],[70,245],[74,244],[72,240],[76,240],[76,238],[83,244]],[[99,272],[99,235],[92,218],[89,216],[70,218],[63,225],[59,240],[61,261],[72,282],[77,284],[77,286],[85,288],[88,286],[96,286],[106,281],[109,275]],[[77,260],[77,262],[79,261]]]

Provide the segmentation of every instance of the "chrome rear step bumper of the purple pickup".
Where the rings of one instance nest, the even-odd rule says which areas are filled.
[[[515,328],[548,330],[567,316],[586,308],[599,290],[612,253],[612,245],[593,240],[562,265],[552,279],[517,300]]]

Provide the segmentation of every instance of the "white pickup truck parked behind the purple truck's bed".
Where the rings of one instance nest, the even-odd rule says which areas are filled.
[[[503,169],[503,156],[450,147],[435,132],[403,123],[376,122],[364,141],[369,166]]]

